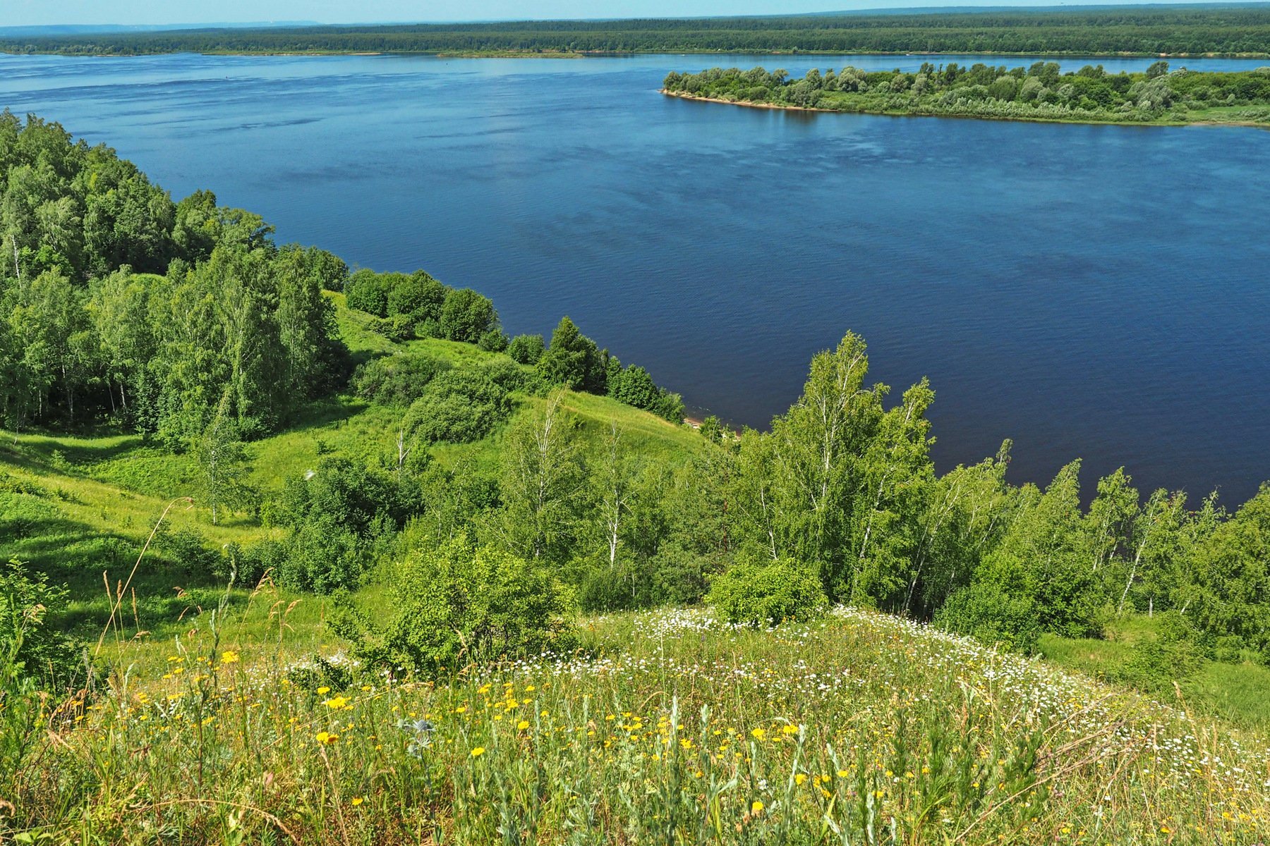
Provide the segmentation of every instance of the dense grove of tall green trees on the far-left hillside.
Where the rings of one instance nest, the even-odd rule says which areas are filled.
[[[210,192],[174,205],[57,124],[0,114],[4,424],[108,416],[184,446],[226,394],[253,436],[328,392],[345,365],[323,289],[347,268],[271,233]]]

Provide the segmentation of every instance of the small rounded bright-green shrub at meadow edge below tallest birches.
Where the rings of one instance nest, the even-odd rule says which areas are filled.
[[[729,621],[747,625],[814,619],[829,605],[819,576],[789,559],[734,564],[715,577],[709,602]]]

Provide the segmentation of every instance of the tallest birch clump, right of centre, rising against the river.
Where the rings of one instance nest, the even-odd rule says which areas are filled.
[[[892,608],[903,601],[933,476],[925,417],[933,394],[923,382],[885,411],[888,388],[866,387],[867,372],[853,334],[817,355],[803,397],[771,434],[742,436],[735,500],[743,544],[815,566],[833,599]]]

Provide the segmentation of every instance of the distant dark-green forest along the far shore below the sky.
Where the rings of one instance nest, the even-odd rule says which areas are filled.
[[[11,53],[1029,53],[1270,56],[1270,5],[201,29],[0,39]]]

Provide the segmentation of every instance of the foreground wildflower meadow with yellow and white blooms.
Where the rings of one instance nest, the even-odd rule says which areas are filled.
[[[1252,843],[1255,741],[897,618],[584,627],[563,661],[330,680],[204,615],[53,720],[10,793],[57,842]],[[329,674],[328,674],[329,675]],[[340,674],[335,674],[337,676]]]

